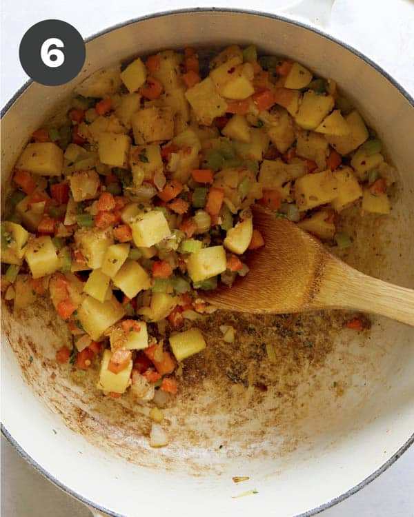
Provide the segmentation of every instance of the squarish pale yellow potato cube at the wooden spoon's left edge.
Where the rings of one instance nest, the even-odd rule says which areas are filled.
[[[190,254],[188,274],[193,282],[201,282],[226,271],[226,252],[223,246],[204,247]]]

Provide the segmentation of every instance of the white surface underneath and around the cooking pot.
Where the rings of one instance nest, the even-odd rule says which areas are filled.
[[[257,9],[298,12],[299,1],[262,0]],[[331,19],[324,17],[328,0],[303,2],[314,23],[381,65],[414,96],[414,2],[412,0],[336,0]],[[19,63],[19,42],[37,21],[48,18],[72,23],[83,37],[150,12],[194,6],[252,8],[247,0],[2,0],[1,94],[3,106],[28,79]],[[311,6],[311,8],[309,8]],[[285,11],[286,12],[286,11]],[[413,425],[414,430],[414,425]],[[88,509],[34,471],[1,438],[1,515],[4,517],[87,517]],[[380,478],[328,509],[324,517],[414,517],[414,447]]]

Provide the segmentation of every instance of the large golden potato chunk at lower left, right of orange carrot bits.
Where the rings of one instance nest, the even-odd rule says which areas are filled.
[[[97,341],[109,327],[117,323],[125,311],[115,296],[103,303],[86,295],[78,309],[77,317],[93,341]]]

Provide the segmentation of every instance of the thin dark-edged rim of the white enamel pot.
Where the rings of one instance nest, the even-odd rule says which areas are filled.
[[[318,34],[319,36],[322,36],[322,37],[324,37],[324,38],[326,38],[326,39],[328,39],[330,41],[333,41],[333,43],[337,43],[338,45],[341,45],[343,48],[346,48],[346,50],[348,50],[349,52],[352,52],[355,56],[357,56],[360,59],[362,59],[363,61],[365,61],[365,63],[367,65],[371,66],[371,68],[374,68],[374,70],[376,70],[377,72],[380,72],[380,74],[382,74],[382,76],[385,77],[385,79],[387,79],[387,81],[389,83],[391,83],[402,94],[403,97],[405,97],[405,99],[408,101],[408,103],[410,103],[411,106],[414,107],[414,98],[411,96],[411,94],[408,93],[407,90],[402,85],[400,85],[400,83],[398,83],[398,81],[396,81],[390,74],[388,74],[388,72],[386,72],[380,65],[377,65],[377,63],[372,61],[370,58],[366,57],[366,55],[363,54],[362,52],[360,52],[359,50],[353,48],[351,45],[348,45],[348,43],[344,43],[344,41],[341,41],[340,39],[337,39],[337,38],[331,36],[331,34],[328,34],[328,33],[324,32],[323,30],[320,30],[319,28],[317,28],[315,26],[312,26],[312,25],[310,25],[308,23],[304,23],[303,21],[298,21],[297,19],[290,19],[290,18],[281,16],[279,14],[273,14],[273,13],[268,13],[268,12],[264,12],[264,11],[256,11],[256,10],[248,10],[248,9],[237,9],[237,8],[216,8],[216,7],[211,7],[211,8],[184,8],[184,9],[166,10],[166,11],[161,11],[161,12],[155,12],[155,13],[152,13],[152,14],[145,14],[144,16],[141,16],[141,17],[132,18],[132,19],[128,19],[128,20],[126,20],[124,22],[117,23],[117,24],[115,24],[113,26],[110,26],[110,27],[108,27],[106,29],[103,29],[103,30],[101,30],[99,32],[95,32],[95,34],[92,34],[91,36],[85,38],[85,42],[88,43],[90,41],[93,41],[94,39],[97,39],[97,38],[103,36],[103,34],[107,34],[108,32],[112,32],[112,30],[116,30],[116,29],[119,29],[119,28],[122,28],[122,27],[126,27],[128,25],[132,25],[132,23],[137,23],[139,21],[146,21],[148,19],[155,19],[155,18],[160,18],[160,17],[166,17],[166,16],[170,16],[170,15],[173,15],[173,14],[190,14],[190,13],[193,13],[193,12],[206,12],[206,13],[207,12],[210,12],[210,13],[211,12],[217,12],[217,13],[220,13],[220,12],[233,12],[233,13],[239,13],[239,14],[253,14],[253,15],[259,16],[259,17],[276,19],[276,20],[279,20],[279,21],[283,21],[285,23],[290,23],[290,24],[295,25],[297,27],[300,27],[300,28],[303,28],[303,29],[306,29],[306,30],[310,30],[311,32],[315,32],[315,34]],[[4,105],[3,108],[1,108],[1,111],[0,111],[0,118],[1,119],[3,119],[3,116],[12,107],[14,102],[17,101],[17,99],[19,99],[21,94],[23,94],[23,92],[25,92],[25,90],[33,82],[34,81],[32,79],[29,79],[28,81],[26,81],[26,83],[24,83],[21,86],[21,88],[19,88],[19,90],[17,90],[17,92],[13,95],[13,97],[10,99],[10,101],[8,101],[6,103],[6,105]],[[14,447],[14,449],[20,454],[20,456],[23,459],[25,459],[30,465],[32,465],[32,467],[34,467],[34,469],[37,469],[37,471],[40,474],[42,474],[44,477],[46,477],[51,483],[53,483],[54,485],[56,485],[57,487],[59,487],[60,489],[65,491],[66,494],[69,494],[70,496],[73,496],[73,497],[77,498],[82,503],[88,505],[89,507],[91,507],[93,509],[96,509],[97,511],[102,511],[104,514],[108,514],[108,516],[111,516],[111,517],[127,517],[127,516],[123,516],[122,514],[117,514],[115,511],[112,511],[112,510],[110,510],[108,508],[101,507],[99,504],[95,503],[94,501],[88,500],[87,498],[85,498],[81,494],[77,493],[77,491],[72,490],[70,487],[66,486],[59,479],[55,478],[55,476],[52,476],[52,474],[50,474],[50,472],[47,472],[46,469],[44,469],[41,465],[39,465],[39,463],[37,463],[37,461],[35,461],[23,449],[23,447],[21,447],[21,445],[19,443],[17,443],[17,440],[14,440],[14,438],[12,437],[10,432],[8,432],[8,430],[6,429],[6,427],[3,424],[3,422],[1,422],[0,430],[1,430],[1,434],[3,434],[3,436],[5,436],[5,438],[8,440],[8,442],[12,445],[12,447]],[[362,480],[360,483],[355,485],[355,487],[352,487],[351,489],[348,489],[346,492],[344,492],[344,494],[340,494],[339,496],[337,496],[337,497],[327,501],[326,503],[323,503],[322,505],[319,505],[318,507],[315,507],[315,508],[313,508],[311,510],[304,511],[302,514],[297,514],[295,517],[311,517],[311,516],[314,516],[316,514],[319,514],[320,512],[324,511],[325,509],[328,509],[328,508],[331,508],[331,507],[337,505],[338,503],[342,503],[342,501],[344,501],[348,497],[352,496],[353,494],[355,494],[360,489],[366,487],[366,485],[371,483],[371,481],[373,481],[375,478],[380,476],[380,474],[385,472],[386,469],[388,469],[388,467],[393,465],[393,463],[398,458],[400,458],[400,456],[402,456],[402,454],[404,452],[406,452],[406,450],[409,447],[411,447],[411,445],[413,445],[413,443],[414,443],[414,433],[411,435],[410,438],[408,438],[406,443],[404,443],[400,447],[400,449],[397,450],[397,452],[395,452],[390,458],[388,458],[388,460],[383,465],[381,465],[381,467],[379,467],[377,470],[375,470],[375,472],[373,472],[373,474],[370,474],[370,476],[367,476],[364,480]]]

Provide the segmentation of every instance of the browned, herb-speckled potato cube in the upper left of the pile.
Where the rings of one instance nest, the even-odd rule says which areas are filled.
[[[139,110],[132,115],[131,123],[137,144],[170,140],[174,136],[174,119],[169,106]]]

